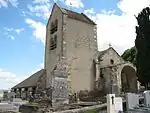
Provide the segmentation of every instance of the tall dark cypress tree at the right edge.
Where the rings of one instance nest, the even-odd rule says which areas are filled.
[[[144,8],[136,17],[138,26],[136,26],[135,47],[136,68],[139,81],[148,88],[150,83],[150,8]],[[149,88],[148,88],[149,89]]]

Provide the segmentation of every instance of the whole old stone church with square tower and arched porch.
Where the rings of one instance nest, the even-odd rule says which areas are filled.
[[[16,97],[50,87],[52,98],[95,89],[116,94],[137,92],[135,67],[112,47],[98,51],[96,23],[85,14],[54,4],[45,43],[44,69],[14,86]]]

